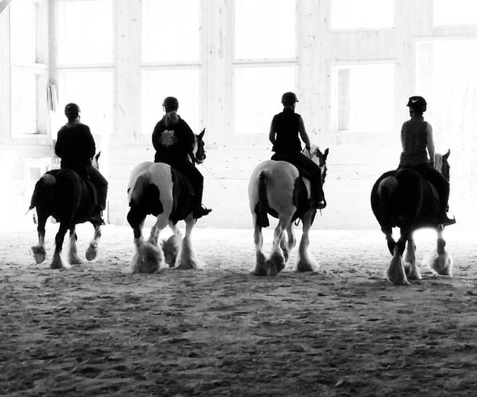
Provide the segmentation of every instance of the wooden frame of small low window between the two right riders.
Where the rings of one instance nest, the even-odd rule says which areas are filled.
[[[390,122],[388,129],[382,131],[374,131],[367,129],[339,129],[339,71],[343,69],[367,69],[370,66],[389,67],[393,70],[393,104],[396,100],[396,77],[397,77],[397,60],[396,59],[379,59],[379,60],[363,60],[363,61],[338,61],[330,65],[330,126],[329,131],[332,135],[338,136],[356,136],[356,135],[374,135],[377,133],[391,133],[395,128],[395,112],[393,109],[393,120]]]

